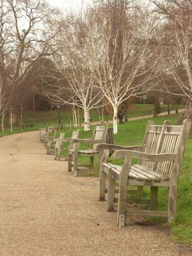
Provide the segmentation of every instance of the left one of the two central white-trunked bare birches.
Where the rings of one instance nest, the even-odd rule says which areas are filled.
[[[81,16],[68,17],[65,33],[60,40],[60,54],[54,58],[57,83],[47,82],[40,93],[55,104],[68,104],[83,109],[84,131],[90,128],[90,110],[102,105],[102,93],[95,86],[88,52],[88,20]],[[60,35],[61,36],[61,35]],[[52,70],[53,71],[53,70]],[[51,70],[47,70],[53,77]]]

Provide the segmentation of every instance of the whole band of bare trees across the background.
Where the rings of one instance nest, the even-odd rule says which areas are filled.
[[[180,118],[192,118],[191,21],[190,0],[97,0],[68,14],[0,0],[1,129],[35,97],[83,109],[84,131],[90,110],[109,106],[116,134],[122,108],[151,91],[184,97]]]

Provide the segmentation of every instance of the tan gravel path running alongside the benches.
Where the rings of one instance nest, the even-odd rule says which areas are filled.
[[[116,212],[97,200],[99,179],[73,177],[38,132],[3,137],[0,147],[1,256],[192,255],[164,227],[116,227]]]

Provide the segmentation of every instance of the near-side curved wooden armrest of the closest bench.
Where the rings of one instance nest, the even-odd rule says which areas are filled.
[[[163,153],[163,154],[147,154],[132,150],[117,150],[113,154],[115,159],[124,158],[138,158],[141,160],[147,160],[152,162],[163,162],[163,161],[175,161],[176,154],[174,153]]]

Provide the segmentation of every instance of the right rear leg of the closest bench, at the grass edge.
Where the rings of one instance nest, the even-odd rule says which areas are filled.
[[[168,198],[168,222],[173,222],[177,210],[177,181],[171,180]]]

